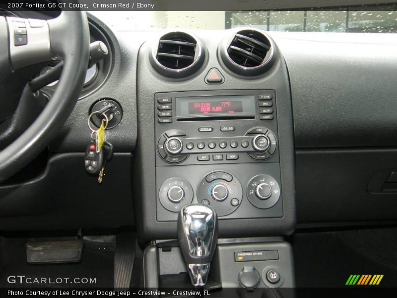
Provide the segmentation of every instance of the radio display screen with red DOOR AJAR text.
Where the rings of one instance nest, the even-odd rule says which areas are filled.
[[[177,117],[242,117],[255,115],[254,95],[177,97]]]

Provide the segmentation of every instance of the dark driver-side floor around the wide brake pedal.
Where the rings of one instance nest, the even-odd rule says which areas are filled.
[[[28,241],[0,237],[0,288],[113,287],[115,244],[84,241],[80,263],[30,265],[26,261]]]

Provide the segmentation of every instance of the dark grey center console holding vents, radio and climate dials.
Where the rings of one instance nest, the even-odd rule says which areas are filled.
[[[176,239],[178,215],[194,205],[217,215],[208,287],[294,287],[283,238],[295,227],[287,66],[262,31],[213,32],[169,32],[139,50],[132,175],[139,240],[150,243],[145,286],[192,286]],[[263,63],[239,66],[251,58]]]

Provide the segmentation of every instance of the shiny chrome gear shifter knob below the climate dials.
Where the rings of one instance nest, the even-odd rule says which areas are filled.
[[[193,286],[204,286],[218,240],[218,217],[204,205],[188,205],[178,216],[178,238]]]

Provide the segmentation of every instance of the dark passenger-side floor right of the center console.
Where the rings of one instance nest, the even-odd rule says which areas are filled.
[[[350,275],[384,275],[397,287],[397,227],[297,232],[293,245],[297,287],[344,287]]]

